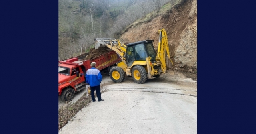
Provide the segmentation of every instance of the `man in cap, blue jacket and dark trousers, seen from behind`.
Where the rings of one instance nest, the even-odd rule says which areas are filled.
[[[104,101],[104,99],[101,99],[101,93],[100,93],[100,82],[102,81],[102,75],[100,74],[100,70],[95,68],[96,63],[92,62],[90,69],[86,72],[86,83],[90,85],[91,88],[91,96],[92,96],[92,102],[95,102],[95,96],[94,91],[96,91],[96,95],[98,97],[98,101]]]

